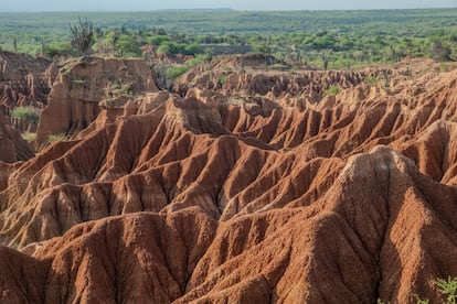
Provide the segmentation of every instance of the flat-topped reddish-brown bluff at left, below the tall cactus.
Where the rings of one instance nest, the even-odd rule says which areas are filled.
[[[153,75],[141,59],[82,57],[67,62],[55,77],[36,132],[36,143],[50,134],[73,135],[98,116],[103,100],[115,102],[157,90]],[[109,105],[108,105],[109,106]]]

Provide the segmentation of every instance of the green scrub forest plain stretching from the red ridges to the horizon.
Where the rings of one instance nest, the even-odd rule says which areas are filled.
[[[0,47],[54,59],[75,55],[70,25],[81,20],[93,24],[94,53],[195,57],[173,67],[172,76],[214,55],[249,52],[273,55],[272,68],[286,68],[285,62],[350,69],[405,56],[457,59],[457,9],[2,13]]]

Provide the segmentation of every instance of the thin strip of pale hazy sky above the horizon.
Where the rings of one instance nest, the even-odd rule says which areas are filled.
[[[457,0],[0,0],[0,11],[151,11],[231,8],[235,10],[328,10],[456,8]]]

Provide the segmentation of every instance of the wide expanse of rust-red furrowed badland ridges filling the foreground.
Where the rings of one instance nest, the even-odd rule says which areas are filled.
[[[0,164],[0,240],[22,251],[0,247],[3,301],[437,302],[457,274],[457,70],[265,73],[233,93],[191,72],[210,78],[132,98],[98,91],[86,68],[119,68],[94,61],[54,86],[104,100],[87,128]],[[340,93],[288,97],[317,84]]]

